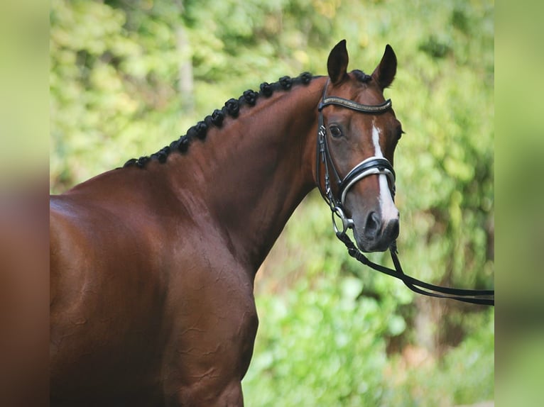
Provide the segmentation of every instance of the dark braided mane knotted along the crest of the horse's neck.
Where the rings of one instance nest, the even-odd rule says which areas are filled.
[[[259,97],[269,98],[275,91],[288,91],[293,85],[297,84],[307,85],[313,78],[314,77],[310,72],[303,72],[295,78],[287,76],[281,77],[278,82],[272,84],[263,82],[259,87],[259,91],[249,89],[244,91],[239,99],[229,99],[221,109],[215,109],[212,114],[206,116],[203,121],[199,121],[195,126],[190,127],[189,130],[187,130],[187,133],[178,138],[178,140],[174,140],[170,145],[161,148],[161,150],[158,150],[158,152],[153,153],[149,157],[143,156],[140,158],[131,158],[131,160],[125,162],[123,167],[136,166],[138,168],[144,168],[151,160],[158,160],[158,162],[161,163],[166,162],[166,160],[168,160],[168,155],[170,155],[171,152],[178,151],[184,154],[189,150],[192,140],[195,140],[195,138],[205,140],[207,131],[211,127],[221,128],[226,117],[237,118],[242,106],[255,106]]]

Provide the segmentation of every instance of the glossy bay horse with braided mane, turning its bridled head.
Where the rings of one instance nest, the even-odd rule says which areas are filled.
[[[392,244],[396,55],[387,45],[372,74],[347,65],[342,40],[327,76],[265,82],[50,197],[53,405],[243,406],[255,274],[315,186],[361,250]]]

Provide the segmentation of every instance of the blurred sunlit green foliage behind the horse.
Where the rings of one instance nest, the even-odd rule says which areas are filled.
[[[492,0],[53,0],[51,190],[155,152],[263,81],[325,74],[342,38],[351,69],[371,72],[386,43],[398,57],[386,96],[407,133],[395,162],[405,269],[493,286]],[[261,267],[256,301],[248,406],[493,399],[494,310],[416,297],[362,268],[318,194]]]

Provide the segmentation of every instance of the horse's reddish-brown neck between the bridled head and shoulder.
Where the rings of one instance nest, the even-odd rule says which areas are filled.
[[[232,250],[259,267],[291,213],[315,186],[317,104],[322,79],[261,97],[239,118],[214,129],[189,148],[185,173],[199,192]],[[196,186],[195,186],[196,187]],[[178,184],[186,194],[186,184]],[[191,199],[190,197],[187,197]]]

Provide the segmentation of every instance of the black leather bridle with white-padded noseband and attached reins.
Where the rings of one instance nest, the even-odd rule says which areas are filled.
[[[327,130],[323,121],[322,109],[326,106],[335,105],[349,108],[361,113],[379,114],[388,111],[391,108],[391,99],[384,101],[378,105],[364,105],[355,101],[343,99],[337,96],[327,97],[327,87],[329,82],[325,84],[323,89],[323,96],[321,103],[318,106],[319,111],[319,128],[317,129],[317,157],[316,157],[316,177],[317,187],[320,190],[321,196],[332,211],[332,225],[337,238],[341,240],[347,247],[347,251],[350,256],[358,260],[362,264],[375,269],[378,272],[388,274],[389,276],[401,279],[403,283],[412,291],[423,294],[425,296],[432,296],[437,298],[454,299],[457,301],[463,301],[467,303],[477,303],[482,305],[495,305],[495,291],[494,290],[471,290],[471,289],[453,289],[450,287],[435,286],[434,284],[420,281],[413,277],[404,274],[401,267],[401,262],[398,260],[398,252],[396,248],[396,242],[393,242],[389,247],[391,253],[391,260],[395,269],[382,266],[371,262],[359,248],[354,245],[354,242],[347,235],[347,230],[354,227],[354,222],[351,218],[346,216],[344,210],[344,202],[346,194],[349,189],[364,177],[368,177],[372,174],[384,174],[388,179],[389,190],[391,196],[395,198],[395,170],[391,163],[382,157],[369,157],[366,160],[359,162],[351,171],[348,172],[346,177],[342,179],[340,177],[336,167],[334,167],[334,161],[330,154],[329,145],[327,143]],[[321,185],[320,169],[321,164],[325,167],[325,189]],[[337,186],[337,195],[332,191],[330,169],[332,169],[332,177]],[[338,228],[337,220],[335,216],[338,216],[342,221],[342,230]],[[482,298],[485,297],[485,298]],[[490,298],[491,297],[491,298]]]

